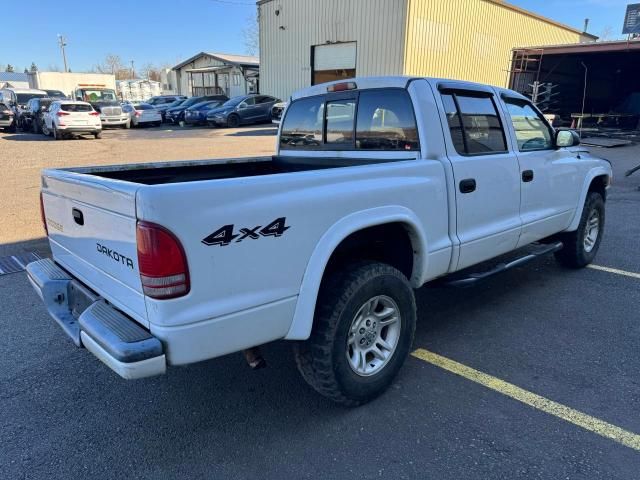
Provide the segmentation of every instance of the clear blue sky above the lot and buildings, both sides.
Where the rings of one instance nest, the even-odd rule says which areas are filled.
[[[344,0],[348,1],[348,0]],[[467,0],[451,0],[467,1]],[[640,1],[640,0],[637,0]],[[74,71],[90,69],[108,53],[136,67],[175,65],[200,51],[246,53],[242,30],[255,17],[248,0],[2,1],[0,66],[41,70],[62,66],[56,35],[67,37]],[[626,0],[511,0],[511,3],[610,39],[621,38]]]

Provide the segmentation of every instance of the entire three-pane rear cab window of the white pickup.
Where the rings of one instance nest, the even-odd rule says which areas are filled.
[[[283,150],[416,151],[413,105],[401,88],[306,97],[291,103],[282,123]]]

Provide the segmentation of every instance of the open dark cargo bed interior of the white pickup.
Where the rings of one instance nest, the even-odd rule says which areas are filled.
[[[367,165],[382,161],[388,162],[389,159],[273,156],[112,165],[71,169],[71,171],[142,185],[161,185]]]

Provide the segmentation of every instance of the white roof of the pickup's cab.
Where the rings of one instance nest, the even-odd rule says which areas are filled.
[[[358,90],[368,90],[372,88],[406,88],[411,80],[417,79],[425,79],[431,82],[435,82],[438,85],[450,87],[450,88],[473,88],[475,90],[486,90],[487,92],[492,92],[493,89],[497,90],[500,93],[508,92],[512,97],[518,97],[527,99],[523,95],[506,88],[501,87],[493,87],[490,85],[485,85],[482,83],[475,82],[467,82],[464,80],[450,80],[446,78],[434,78],[434,77],[413,77],[413,76],[384,76],[384,77],[355,77],[355,78],[345,78],[344,80],[336,80],[328,83],[321,83],[319,85],[313,85],[312,87],[303,88],[294,92],[291,95],[291,100],[297,100],[299,98],[304,97],[312,97],[314,95],[324,95],[327,93],[327,88],[330,85],[335,85],[339,83],[347,83],[347,82],[355,82]]]

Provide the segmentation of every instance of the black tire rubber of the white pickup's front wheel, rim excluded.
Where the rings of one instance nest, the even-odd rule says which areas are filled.
[[[594,214],[598,216],[599,229],[591,250],[587,250],[585,245],[586,231],[588,222],[593,218],[592,215]],[[556,260],[568,268],[583,268],[589,265],[598,253],[598,248],[600,247],[604,233],[604,225],[604,199],[598,192],[589,192],[584,202],[584,209],[582,210],[578,229],[575,232],[566,232],[559,235],[559,239],[564,244],[564,247],[555,253]]]

